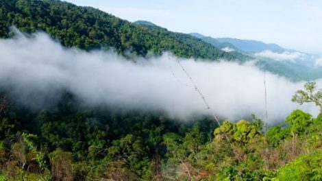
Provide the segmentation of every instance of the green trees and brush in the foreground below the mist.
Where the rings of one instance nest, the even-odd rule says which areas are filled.
[[[314,82],[293,101],[321,104]],[[321,180],[322,117],[184,123],[160,112],[88,108],[63,93],[47,110],[0,99],[2,180]]]

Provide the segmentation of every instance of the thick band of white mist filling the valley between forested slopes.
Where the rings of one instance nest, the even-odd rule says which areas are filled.
[[[68,90],[90,106],[160,110],[179,119],[209,114],[178,59],[166,53],[132,62],[106,51],[66,49],[46,34],[34,34],[1,39],[0,55],[0,86],[25,104],[40,102],[31,99],[35,93],[46,103],[59,90]],[[264,73],[253,64],[179,61],[221,119],[235,121],[249,114],[263,118]],[[290,101],[304,83],[267,73],[269,123],[283,121],[297,108],[317,115],[314,105]]]

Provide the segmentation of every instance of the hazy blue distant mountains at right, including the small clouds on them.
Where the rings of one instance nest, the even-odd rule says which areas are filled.
[[[255,65],[260,69],[282,75],[289,80],[316,80],[322,77],[322,67],[315,65],[319,56],[285,49],[276,44],[262,43],[258,40],[212,38],[199,33],[190,33],[190,35],[225,51],[245,53],[256,59]]]

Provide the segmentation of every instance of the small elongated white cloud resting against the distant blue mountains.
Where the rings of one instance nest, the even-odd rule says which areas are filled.
[[[303,58],[305,54],[298,51],[294,51],[294,52],[284,51],[283,53],[276,53],[271,50],[264,50],[260,53],[256,53],[255,56],[271,58],[277,61],[285,61],[285,60],[294,61],[294,60]]]

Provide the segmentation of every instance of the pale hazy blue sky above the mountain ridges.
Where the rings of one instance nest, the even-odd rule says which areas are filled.
[[[174,32],[262,40],[322,54],[320,0],[68,0]]]

